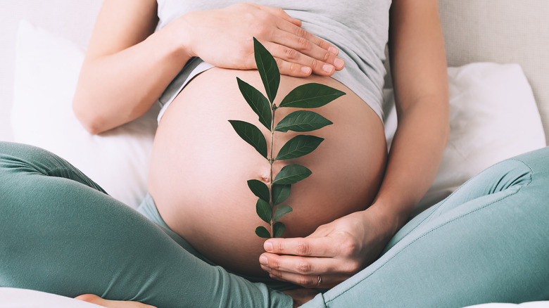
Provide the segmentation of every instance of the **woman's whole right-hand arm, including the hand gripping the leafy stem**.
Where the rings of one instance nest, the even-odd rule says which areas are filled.
[[[389,48],[398,129],[374,203],[307,238],[270,239],[263,269],[330,288],[372,263],[431,185],[449,134],[446,58],[436,0],[393,0]]]

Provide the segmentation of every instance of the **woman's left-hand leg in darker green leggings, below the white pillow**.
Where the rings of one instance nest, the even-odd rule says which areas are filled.
[[[0,143],[0,286],[158,307],[291,298],[213,267],[44,150]]]

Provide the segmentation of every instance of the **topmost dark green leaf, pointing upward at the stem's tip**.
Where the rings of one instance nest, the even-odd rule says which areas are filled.
[[[272,58],[271,54],[265,47],[253,38],[253,54],[255,56],[255,65],[258,66],[259,75],[269,101],[274,102],[274,97],[277,96],[278,86],[280,84],[280,72],[278,70],[277,61]]]

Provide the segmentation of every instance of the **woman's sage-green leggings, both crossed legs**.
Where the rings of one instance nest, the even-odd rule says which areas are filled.
[[[419,214],[370,267],[306,307],[549,300],[549,148],[481,172]],[[52,153],[0,142],[0,287],[157,307],[291,307]]]

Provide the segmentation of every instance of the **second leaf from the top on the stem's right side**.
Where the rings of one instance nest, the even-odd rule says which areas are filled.
[[[318,113],[313,113],[313,111],[309,110],[298,110],[286,115],[284,119],[278,122],[277,128],[274,130],[284,133],[286,131],[314,131],[329,124],[334,123]]]

